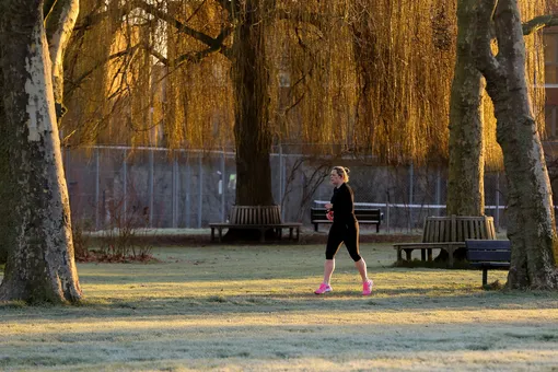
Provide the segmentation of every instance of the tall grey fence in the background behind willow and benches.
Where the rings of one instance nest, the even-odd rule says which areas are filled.
[[[309,156],[287,149],[276,147],[270,159],[274,198],[284,221],[311,225],[310,208],[332,196],[333,165],[350,167],[357,207],[380,208],[384,230],[420,229],[425,217],[445,214],[445,168],[377,166],[367,159]],[[224,222],[235,199],[234,155],[125,147],[66,150],[73,220],[91,230],[112,228],[115,221],[158,229]],[[486,212],[495,217],[497,229],[505,225],[501,178],[487,174],[485,179]]]

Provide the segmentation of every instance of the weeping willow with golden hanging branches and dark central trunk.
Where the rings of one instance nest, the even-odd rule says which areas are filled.
[[[477,117],[476,140],[449,136],[450,116],[450,128],[458,127],[453,124],[455,107],[447,105],[456,95],[451,91],[456,48],[463,56],[455,45],[456,2],[156,4],[102,2],[93,15],[84,16],[88,24],[88,19],[105,15],[100,35],[112,38],[88,43],[93,46],[90,54],[101,56],[97,60],[111,60],[102,79],[105,86],[95,91],[101,92],[98,102],[112,105],[104,108],[111,114],[105,120],[111,132],[121,130],[126,138],[131,131],[129,142],[150,143],[149,133],[156,130],[164,138],[160,143],[176,148],[224,147],[234,138],[237,205],[274,202],[267,181],[274,142],[322,143],[317,149],[326,152],[345,146],[384,163],[421,163],[445,162],[450,141],[469,153],[470,141],[476,141],[470,172],[463,164],[454,168],[461,167],[456,174],[474,186],[461,189],[476,193],[475,210],[483,209],[484,163],[496,167],[501,154],[490,103],[483,96],[487,103],[479,105],[475,96],[483,91],[481,81],[473,98],[457,98],[473,105],[462,102],[458,107],[473,113],[470,120],[475,113],[486,113]],[[527,14],[536,9],[526,1],[524,7]],[[96,53],[100,45],[102,53]],[[535,48],[528,50],[534,56]],[[535,71],[534,60],[527,59],[528,71]],[[458,199],[469,200],[466,195]]]

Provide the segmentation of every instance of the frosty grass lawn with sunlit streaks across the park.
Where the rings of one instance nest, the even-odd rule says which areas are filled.
[[[323,245],[154,248],[151,264],[80,264],[80,306],[0,305],[2,371],[558,371],[558,293],[480,289],[481,272],[393,268]],[[505,282],[505,271],[489,281]]]

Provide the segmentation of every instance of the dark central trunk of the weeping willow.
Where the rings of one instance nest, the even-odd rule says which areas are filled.
[[[233,84],[235,97],[236,205],[270,206],[269,70],[266,63],[263,9],[266,0],[247,0],[234,35]]]

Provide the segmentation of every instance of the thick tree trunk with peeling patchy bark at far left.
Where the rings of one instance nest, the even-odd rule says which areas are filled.
[[[0,300],[75,302],[82,292],[73,259],[43,1],[3,0],[0,16],[9,176],[18,185],[12,211],[15,245],[8,255]]]

